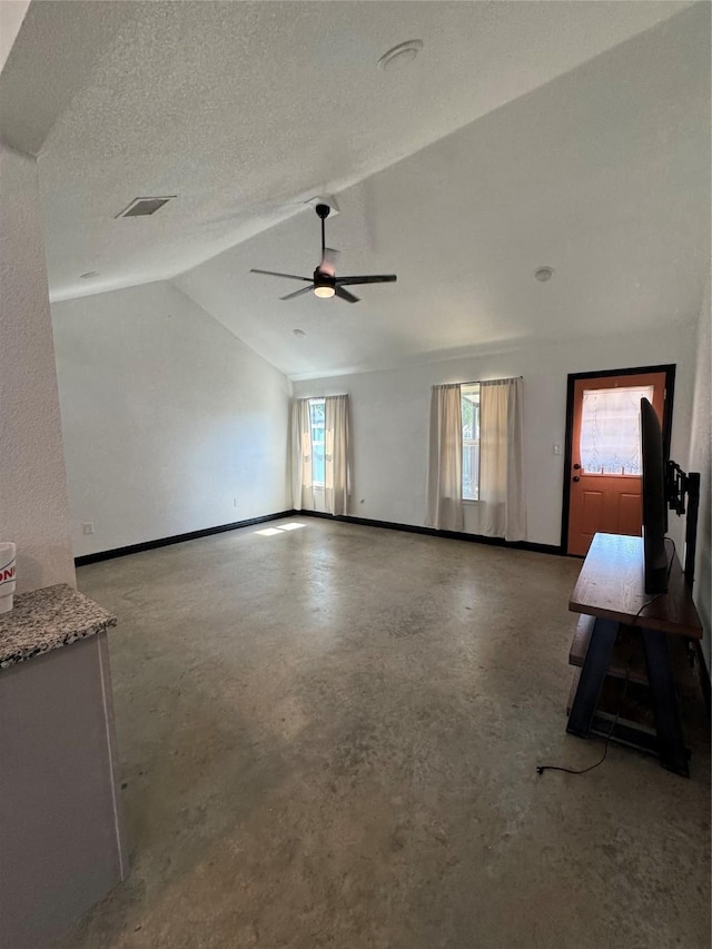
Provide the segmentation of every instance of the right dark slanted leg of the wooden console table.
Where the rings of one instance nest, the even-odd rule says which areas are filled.
[[[660,763],[669,771],[689,777],[688,753],[682,738],[678,700],[670,665],[668,637],[660,630],[642,630],[650,695],[655,715]]]

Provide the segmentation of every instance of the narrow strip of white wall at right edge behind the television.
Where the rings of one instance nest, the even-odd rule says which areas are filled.
[[[698,521],[698,556],[695,561],[694,599],[704,626],[702,648],[710,669],[712,636],[712,476],[710,451],[712,444],[712,307],[710,281],[700,313],[698,329],[698,365],[692,407],[692,433],[688,471],[700,472],[700,516]]]

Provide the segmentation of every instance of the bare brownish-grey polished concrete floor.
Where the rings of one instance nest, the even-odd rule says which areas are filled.
[[[79,571],[131,874],[61,946],[706,949],[703,706],[690,780],[535,772],[603,749],[565,733],[580,562],[297,523]]]

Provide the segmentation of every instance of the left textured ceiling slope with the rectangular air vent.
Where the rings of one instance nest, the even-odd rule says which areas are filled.
[[[52,296],[177,274],[680,6],[36,0],[29,39],[37,49],[47,20],[58,76],[36,58],[33,82],[73,90],[77,58],[92,57],[41,150]],[[376,68],[414,37],[425,47],[409,69]],[[178,198],[115,220],[148,195]]]

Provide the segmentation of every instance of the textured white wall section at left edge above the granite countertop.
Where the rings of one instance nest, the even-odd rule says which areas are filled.
[[[75,566],[34,159],[0,146],[0,540],[21,593]]]

